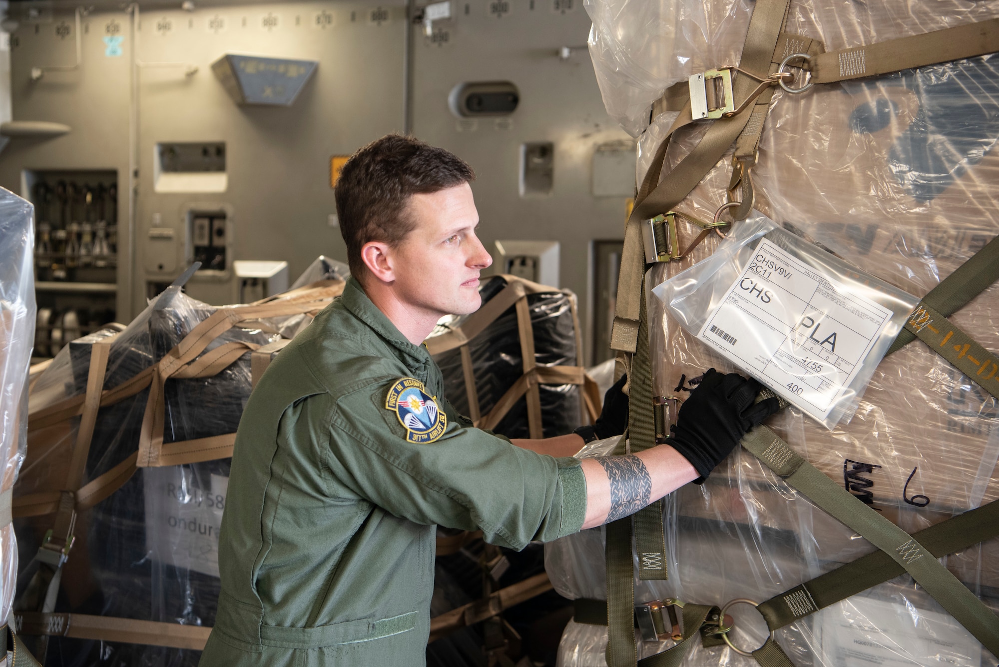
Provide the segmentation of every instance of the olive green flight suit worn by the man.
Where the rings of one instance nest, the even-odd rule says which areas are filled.
[[[436,396],[447,423],[423,442],[411,441],[402,407],[386,406],[404,378],[426,395],[411,388],[403,402]],[[200,664],[423,665],[437,525],[521,549],[579,530],[585,508],[579,461],[472,427],[444,398],[426,347],[351,280],[243,412]]]

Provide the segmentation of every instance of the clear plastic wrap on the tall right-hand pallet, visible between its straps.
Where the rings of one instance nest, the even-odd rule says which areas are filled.
[[[645,128],[650,103],[689,74],[737,64],[751,3],[677,0],[665,11],[647,0],[591,0],[586,8],[594,23],[590,53],[608,110],[625,129],[645,129],[640,182],[675,118],[662,114]],[[817,38],[829,51],[996,16],[995,2],[795,0],[786,30]],[[663,35],[671,47],[645,48]],[[778,90],[752,171],[755,208],[922,297],[999,233],[999,157],[992,150],[999,139],[996,58],[814,86],[801,95]],[[703,130],[695,124],[673,138],[663,174]],[[724,202],[730,155],[677,210],[711,219]],[[696,231],[680,224],[681,247]],[[709,257],[719,241],[711,235],[683,261],[657,265],[648,287]],[[997,297],[993,285],[951,317],[991,350],[999,349]],[[735,369],[684,332],[658,299],[649,296],[647,304],[658,395],[689,390],[689,380],[706,367]],[[880,362],[849,422],[828,430],[790,407],[767,423],[910,533],[999,498],[996,400],[919,340]],[[761,602],[873,550],[741,448],[703,486],[686,485],[670,495],[664,520],[669,579],[636,581],[636,602],[671,596],[707,604],[737,597]],[[604,598],[601,529],[558,540],[545,555],[562,595]],[[999,539],[944,562],[986,605],[999,609]],[[730,613],[735,644],[760,646],[766,631],[759,614],[744,605]],[[605,627],[570,622],[558,664],[606,664],[606,636]],[[782,628],[776,640],[799,666],[996,662],[908,575]],[[639,641],[639,656],[668,645]],[[685,664],[755,663],[725,647],[695,645]]]

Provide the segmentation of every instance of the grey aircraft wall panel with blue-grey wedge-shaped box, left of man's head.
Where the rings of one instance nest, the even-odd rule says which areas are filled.
[[[115,169],[123,185],[120,208],[128,210],[130,21],[125,12],[85,17],[81,67],[46,72],[37,82],[30,80],[32,67],[73,61],[75,37],[56,32],[60,24],[73,27],[73,14],[22,22],[12,53],[14,118],[65,123],[72,131],[13,140],[0,154],[0,185],[18,191],[22,168]],[[372,3],[142,11],[138,56],[150,65],[140,67],[135,275],[131,299],[119,303],[120,319],[145,306],[148,282],[169,283],[182,270],[184,212],[191,206],[229,208],[230,260],[287,260],[294,277],[320,254],[346,257],[339,230],[329,225],[336,212],[330,158],[404,129],[405,26],[404,6]],[[120,56],[108,55],[103,37],[112,31],[123,37]],[[315,60],[319,67],[290,107],[238,106],[211,69],[225,53]],[[187,65],[197,73],[187,76]],[[155,192],[160,142],[225,142],[225,192]],[[174,229],[174,242],[154,242],[151,227]],[[121,245],[127,248],[124,238]],[[176,262],[147,257],[169,253]],[[159,272],[160,264],[176,268]],[[189,292],[229,303],[233,280],[196,277]]]

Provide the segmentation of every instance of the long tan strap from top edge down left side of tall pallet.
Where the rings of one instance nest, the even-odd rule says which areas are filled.
[[[768,70],[777,40],[787,17],[789,0],[756,0],[746,41],[742,47],[739,67],[750,72]],[[732,82],[735,99],[745,99],[756,87],[749,77],[738,76]],[[684,112],[681,112],[681,117]],[[648,194],[636,199],[634,209],[624,229],[624,248],[621,251],[620,276],[617,281],[617,304],[614,310],[613,329],[610,333],[612,349],[634,352],[638,337],[638,302],[641,279],[644,274],[644,250],[641,241],[641,221],[654,218],[679,204],[701,179],[718,163],[728,147],[736,140],[749,122],[748,110],[730,118],[721,118],[711,124],[704,138],[661,183],[646,178]],[[665,142],[663,142],[665,143]],[[665,157],[664,147],[656,152]],[[661,163],[660,163],[661,165]],[[650,170],[651,171],[651,170]],[[655,174],[658,175],[658,172]],[[644,183],[643,183],[644,186]],[[643,190],[646,188],[643,187]]]

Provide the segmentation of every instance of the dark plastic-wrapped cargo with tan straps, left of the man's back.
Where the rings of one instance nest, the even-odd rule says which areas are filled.
[[[109,345],[105,404],[87,443],[75,542],[52,610],[56,617],[72,615],[62,617],[71,630],[49,638],[46,664],[198,663],[197,647],[215,620],[228,456],[252,388],[252,356],[281,339],[288,321],[296,320],[296,329],[308,324],[301,319],[311,319],[342,285],[223,309],[174,286],[123,331],[110,328],[71,341],[38,377],[30,396],[28,456],[14,498],[22,591],[34,575],[32,557],[53,527],[58,489],[66,488],[81,424],[74,414],[87,393],[95,347]],[[25,634],[38,630],[33,611],[18,610]],[[79,629],[95,616],[112,632]],[[59,634],[42,620],[48,634]],[[162,625],[137,630],[129,620]],[[172,638],[177,626],[205,630]],[[145,632],[145,639],[109,640],[125,631]]]

